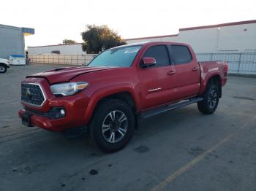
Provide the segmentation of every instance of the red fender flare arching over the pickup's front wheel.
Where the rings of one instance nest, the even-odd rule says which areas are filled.
[[[102,87],[99,90],[95,91],[92,95],[91,98],[89,98],[89,104],[86,108],[86,114],[85,114],[85,119],[86,123],[89,122],[91,119],[91,116],[94,112],[94,109],[96,108],[97,104],[99,103],[102,98],[108,97],[110,95],[116,94],[116,93],[124,93],[127,92],[130,95],[132,95],[132,99],[135,102],[135,106],[140,110],[140,98],[139,98],[139,93],[136,92],[135,86],[131,84],[118,84],[118,85],[110,85],[108,87]]]

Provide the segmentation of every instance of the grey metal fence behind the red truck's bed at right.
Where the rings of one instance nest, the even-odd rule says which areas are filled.
[[[256,74],[256,52],[197,53],[198,61],[227,61],[230,74]]]

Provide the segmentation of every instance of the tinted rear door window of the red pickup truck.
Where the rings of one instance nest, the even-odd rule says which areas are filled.
[[[192,61],[192,55],[188,47],[182,45],[171,45],[171,47],[175,64],[189,63]]]

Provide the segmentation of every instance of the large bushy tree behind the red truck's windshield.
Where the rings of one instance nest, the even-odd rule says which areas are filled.
[[[83,51],[89,54],[97,54],[102,50],[127,44],[108,26],[87,25],[86,31],[82,32],[81,35],[84,41],[82,44]]]

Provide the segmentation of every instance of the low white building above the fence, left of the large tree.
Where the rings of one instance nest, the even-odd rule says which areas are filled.
[[[58,44],[38,47],[28,47],[29,55],[48,55],[48,54],[60,54],[60,55],[86,55],[86,52],[82,50],[82,44]]]

